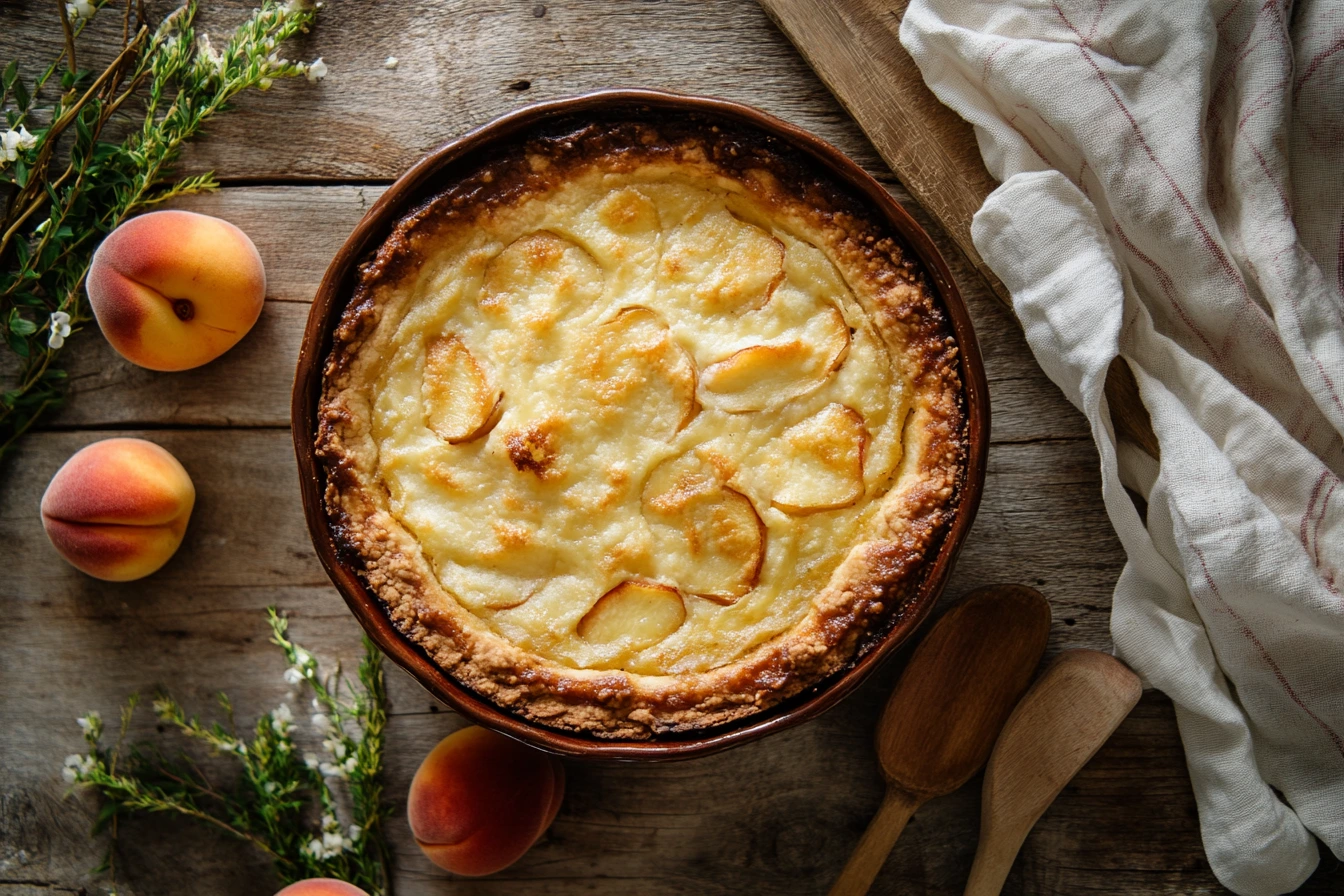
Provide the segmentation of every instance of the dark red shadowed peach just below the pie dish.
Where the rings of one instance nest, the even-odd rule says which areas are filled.
[[[431,862],[480,877],[508,868],[546,833],[564,798],[564,766],[485,728],[462,728],[425,756],[406,803]]]

